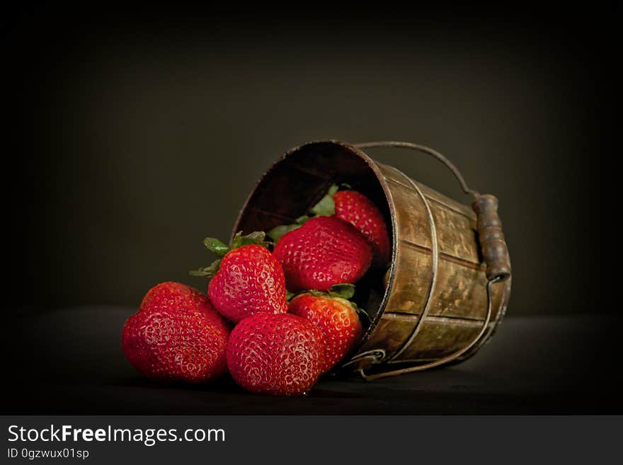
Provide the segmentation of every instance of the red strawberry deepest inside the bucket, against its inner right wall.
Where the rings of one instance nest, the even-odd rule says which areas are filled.
[[[339,190],[333,195],[336,217],[349,222],[372,243],[372,265],[384,268],[389,263],[391,246],[383,214],[365,195],[355,190]]]

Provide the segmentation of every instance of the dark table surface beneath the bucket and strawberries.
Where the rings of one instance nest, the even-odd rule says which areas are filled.
[[[20,311],[4,326],[4,414],[623,413],[621,318],[508,316],[491,343],[452,367],[361,381],[322,379],[308,396],[247,394],[231,379],[156,384],[125,361],[133,309]]]

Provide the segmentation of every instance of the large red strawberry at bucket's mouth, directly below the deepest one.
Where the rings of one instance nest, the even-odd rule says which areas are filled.
[[[290,290],[325,291],[365,275],[372,247],[354,226],[336,217],[314,217],[279,239],[273,255]]]

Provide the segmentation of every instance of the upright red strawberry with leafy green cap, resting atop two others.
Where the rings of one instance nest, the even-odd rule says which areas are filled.
[[[231,321],[259,313],[287,312],[285,276],[263,239],[264,233],[238,233],[230,248],[217,239],[207,238],[205,246],[222,256],[222,260],[191,272],[211,278],[207,287],[210,300]]]

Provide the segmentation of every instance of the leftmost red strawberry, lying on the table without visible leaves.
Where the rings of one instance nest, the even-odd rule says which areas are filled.
[[[122,333],[125,357],[152,379],[200,383],[227,371],[229,328],[197,289],[163,282],[144,297]]]

